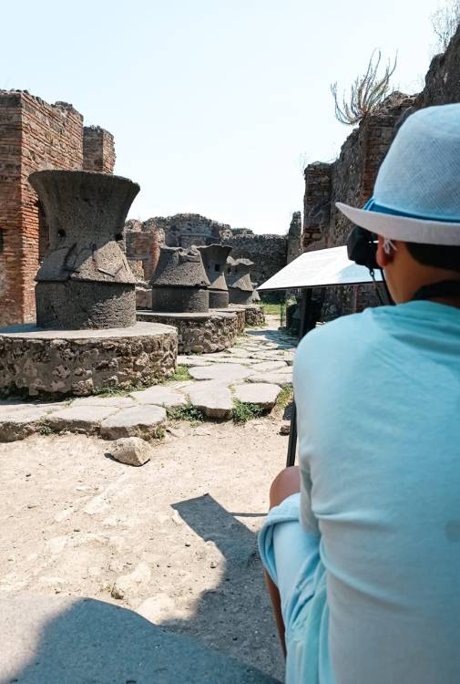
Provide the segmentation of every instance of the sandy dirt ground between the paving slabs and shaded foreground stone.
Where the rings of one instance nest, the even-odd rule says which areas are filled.
[[[281,422],[181,424],[140,468],[83,435],[0,444],[0,596],[127,606],[282,679],[256,546]]]

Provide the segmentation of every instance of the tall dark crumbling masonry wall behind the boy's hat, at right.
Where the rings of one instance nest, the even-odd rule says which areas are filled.
[[[434,57],[418,95],[395,92],[366,117],[345,140],[337,161],[320,161],[305,169],[302,231],[303,251],[345,244],[351,223],[335,202],[355,206],[371,197],[378,170],[394,135],[404,119],[416,109],[460,101],[460,28],[445,54]],[[378,304],[373,286],[330,288],[324,297],[322,318],[361,311]]]

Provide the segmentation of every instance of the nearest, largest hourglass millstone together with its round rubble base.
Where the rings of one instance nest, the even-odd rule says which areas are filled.
[[[30,179],[49,227],[37,326],[0,330],[0,393],[58,398],[148,386],[176,366],[174,328],[136,321],[136,279],[118,242],[137,183],[89,171]]]

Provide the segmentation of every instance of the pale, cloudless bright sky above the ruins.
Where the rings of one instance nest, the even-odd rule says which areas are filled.
[[[394,85],[423,86],[437,0],[23,0],[1,7],[0,88],[65,100],[116,139],[138,181],[131,218],[198,212],[285,233],[302,168],[350,130],[347,87],[373,49]]]

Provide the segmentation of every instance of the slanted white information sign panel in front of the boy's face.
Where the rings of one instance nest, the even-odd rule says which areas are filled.
[[[375,280],[382,280],[379,271],[375,273]],[[332,247],[301,254],[257,289],[296,290],[305,287],[360,285],[372,282],[369,269],[350,261],[346,247]]]

